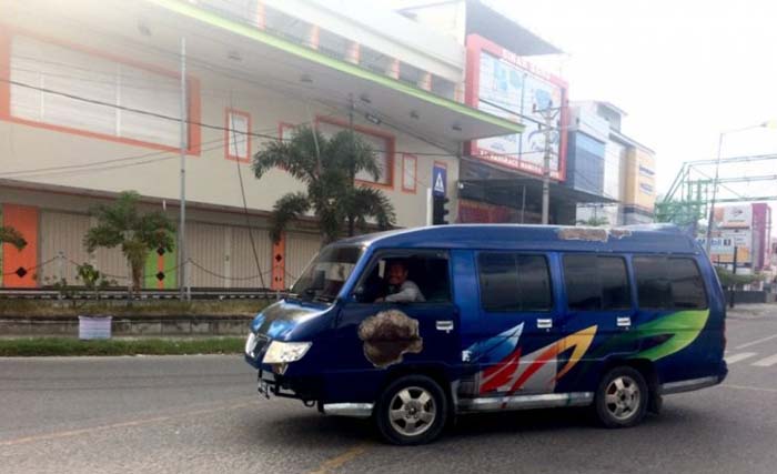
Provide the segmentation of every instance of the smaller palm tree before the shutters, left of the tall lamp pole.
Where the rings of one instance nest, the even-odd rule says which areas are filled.
[[[138,211],[140,194],[124,191],[110,205],[100,205],[93,214],[98,224],[83,238],[89,253],[104,246],[121,246],[121,252],[132,271],[132,290],[138,292],[143,279],[143,266],[152,250],[173,250],[172,222],[161,212],[141,214]]]

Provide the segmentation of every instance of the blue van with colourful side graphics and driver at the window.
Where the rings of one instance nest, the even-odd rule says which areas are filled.
[[[725,345],[715,271],[674,226],[445,225],[325,246],[253,320],[245,360],[268,397],[420,444],[503,410],[633,426],[720,383]]]

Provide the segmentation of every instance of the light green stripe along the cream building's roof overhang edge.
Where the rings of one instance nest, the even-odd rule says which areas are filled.
[[[225,31],[230,31],[234,34],[259,41],[263,44],[270,46],[272,48],[280,49],[297,58],[306,59],[311,62],[315,62],[327,68],[332,68],[340,72],[354,75],[356,78],[365,79],[367,81],[374,82],[376,84],[383,85],[385,88],[395,90],[397,92],[405,93],[407,95],[414,97],[424,102],[428,102],[435,105],[446,108],[453,112],[467,115],[472,119],[480,120],[492,125],[502,127],[508,133],[523,133],[524,127],[519,123],[511,122],[509,120],[503,119],[491,113],[482,112],[477,109],[473,109],[463,103],[445,99],[433,93],[426,92],[423,89],[415,88],[413,85],[406,84],[398,80],[389,78],[386,75],[379,74],[376,72],[369,71],[366,69],[360,68],[356,64],[350,62],[341,61],[331,58],[326,54],[322,54],[313,49],[296,44],[292,41],[287,41],[275,37],[271,33],[262,31],[255,27],[243,24],[238,21],[229,20],[218,13],[203,10],[200,7],[183,2],[180,0],[148,0],[150,3],[154,3],[165,10],[189,17],[191,19],[201,21],[203,23],[210,24]]]

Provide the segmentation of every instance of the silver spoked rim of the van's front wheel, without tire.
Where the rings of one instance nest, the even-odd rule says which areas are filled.
[[[402,389],[389,404],[391,426],[403,436],[425,433],[437,417],[434,396],[420,386]]]

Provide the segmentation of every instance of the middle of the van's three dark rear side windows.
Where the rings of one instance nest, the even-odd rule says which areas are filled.
[[[626,261],[620,256],[564,255],[564,283],[572,311],[624,310],[632,306]]]

